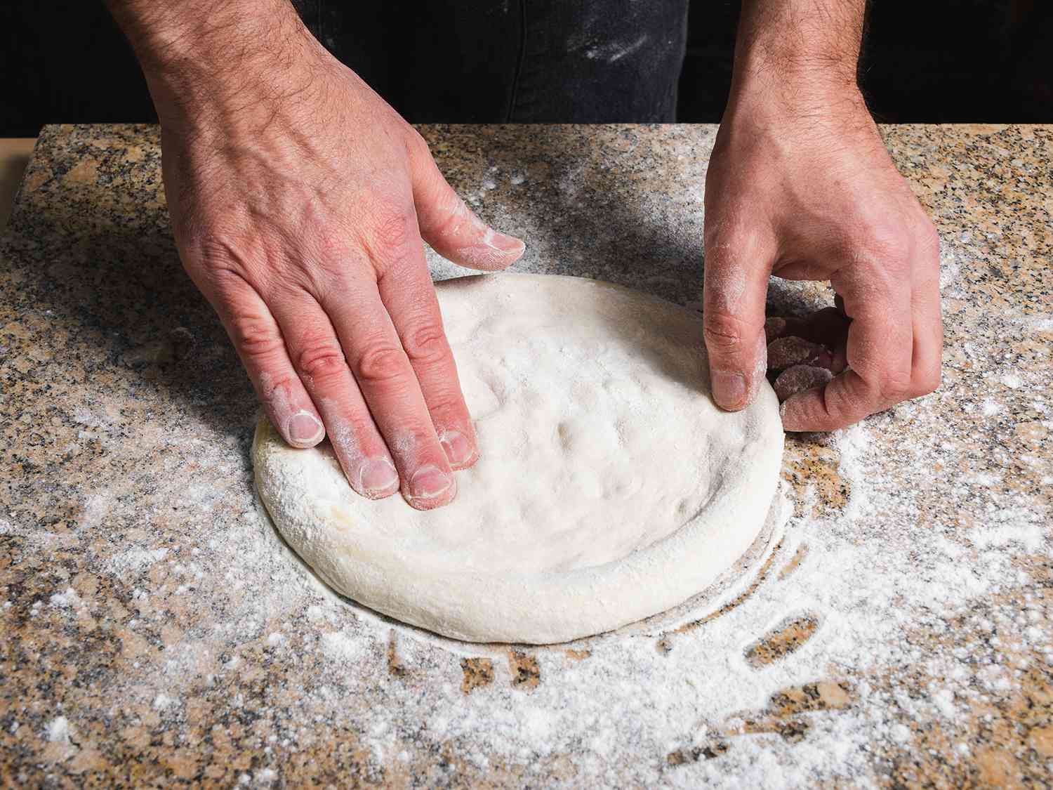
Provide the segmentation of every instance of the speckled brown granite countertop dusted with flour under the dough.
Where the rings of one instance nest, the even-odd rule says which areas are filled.
[[[422,131],[518,271],[697,302],[714,126]],[[789,438],[792,517],[697,616],[525,648],[290,554],[157,129],[46,127],[0,243],[2,784],[1048,782],[1053,127],[882,134],[942,238],[942,387]],[[776,280],[769,308],[830,298]]]

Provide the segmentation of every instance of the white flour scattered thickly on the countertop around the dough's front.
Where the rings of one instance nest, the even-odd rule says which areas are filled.
[[[938,397],[829,439],[839,455],[846,507],[813,516],[814,496],[797,502],[800,515],[787,524],[772,571],[740,604],[684,633],[655,627],[568,646],[591,651],[581,660],[570,661],[562,646],[528,648],[540,676],[529,691],[517,685],[505,648],[443,639],[361,609],[333,594],[302,566],[258,503],[231,510],[235,496],[223,486],[187,487],[174,476],[154,497],[157,514],[171,512],[170,502],[192,507],[197,532],[180,547],[126,548],[100,560],[100,570],[121,579],[136,574],[140,594],[133,599],[140,611],[130,629],[148,633],[165,621],[164,607],[154,607],[171,605],[171,593],[181,587],[193,587],[201,606],[227,603],[166,646],[157,659],[162,671],[151,660],[130,670],[125,693],[145,694],[150,707],[175,713],[178,700],[199,693],[195,689],[201,684],[259,672],[261,651],[267,648],[274,656],[269,660],[286,665],[285,677],[299,680],[292,702],[283,697],[280,707],[254,714],[285,722],[286,734],[269,745],[265,765],[252,774],[260,784],[270,775],[260,771],[280,774],[281,754],[297,748],[299,737],[311,736],[319,722],[326,729],[357,732],[378,771],[399,754],[450,743],[460,744],[458,754],[480,770],[494,761],[521,765],[528,782],[535,766],[535,778],[544,775],[545,755],[570,753],[578,777],[589,784],[766,788],[819,778],[873,784],[871,750],[881,743],[889,748],[907,744],[912,733],[906,722],[938,719],[953,727],[980,695],[1013,690],[1016,670],[1005,665],[1010,646],[999,646],[994,634],[1011,633],[1016,648],[1040,649],[1053,660],[1050,618],[1040,601],[994,603],[1007,580],[1028,581],[1013,568],[1014,555],[1049,551],[1048,508],[1019,492],[1002,492],[992,481],[955,477],[954,459],[965,439],[953,436],[919,433],[897,449],[901,479],[937,475],[933,463],[940,461],[945,471],[934,483],[949,507],[930,508],[930,487],[905,496],[895,482],[870,475],[881,452],[875,437],[893,419],[931,418]],[[208,460],[211,479],[245,485],[237,482],[246,475],[237,452],[213,450]],[[247,497],[242,491],[237,499]],[[940,520],[945,512],[972,512],[980,524],[958,534],[959,525]],[[144,517],[150,524],[156,515]],[[221,528],[214,526],[219,522]],[[798,550],[796,568],[780,574]],[[161,580],[139,575],[146,569],[152,579]],[[738,589],[750,580],[742,579]],[[83,605],[68,587],[48,603]],[[1016,621],[1021,612],[1022,626]],[[759,637],[800,617],[817,626],[798,650],[760,667],[747,660]],[[955,617],[972,618],[968,632],[986,628],[992,638],[955,650],[926,650],[903,639],[916,628],[950,632]],[[988,625],[976,625],[980,620]],[[668,652],[657,648],[661,637]],[[280,654],[271,652],[279,646]],[[391,673],[389,650],[413,682]],[[298,674],[300,656],[319,663],[318,669]],[[488,658],[494,673],[492,683],[470,694],[461,690],[466,657]],[[917,699],[868,680],[921,670],[929,678],[928,693]],[[762,715],[773,694],[821,680],[848,683],[853,704],[802,714],[809,724],[803,740],[744,731],[746,719]],[[244,703],[235,696],[230,704]],[[180,726],[178,715],[165,720]],[[48,733],[64,737],[64,717],[54,719]],[[665,755],[675,750],[717,742],[729,747],[715,758],[676,768],[667,763]]]

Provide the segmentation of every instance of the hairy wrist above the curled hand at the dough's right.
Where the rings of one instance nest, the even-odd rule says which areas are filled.
[[[856,85],[865,0],[742,0],[735,81]]]

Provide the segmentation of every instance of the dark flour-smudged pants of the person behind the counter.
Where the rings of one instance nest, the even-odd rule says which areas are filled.
[[[414,123],[668,122],[688,0],[294,0]]]

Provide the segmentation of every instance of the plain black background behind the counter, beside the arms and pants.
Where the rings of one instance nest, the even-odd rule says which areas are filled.
[[[1051,6],[874,0],[860,60],[871,108],[888,122],[1053,122]],[[693,3],[679,120],[720,119],[737,13],[737,0]],[[32,137],[54,122],[156,121],[101,0],[8,0],[0,31],[0,137]]]

